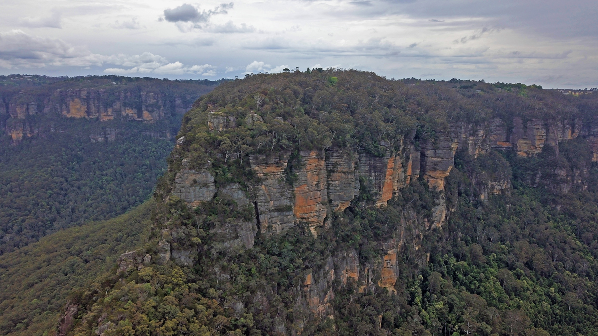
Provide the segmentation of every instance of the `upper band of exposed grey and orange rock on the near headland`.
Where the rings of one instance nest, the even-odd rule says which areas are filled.
[[[257,121],[260,118],[254,113],[245,117],[248,126]],[[255,230],[248,223],[236,224],[244,228],[239,229],[241,231],[236,234],[237,238],[231,239],[231,242],[243,241],[242,245],[250,246],[252,238],[238,237],[253,237],[257,231],[281,233],[301,222],[306,222],[317,234],[316,228],[325,226],[332,212],[341,212],[355,202],[362,187],[368,188],[376,206],[384,206],[390,198],[400,193],[401,188],[419,176],[428,182],[429,187],[443,191],[445,179],[454,167],[457,150],[478,157],[487,154],[490,148],[509,149],[527,157],[537,154],[545,145],[558,148],[559,141],[578,135],[587,136],[590,143],[593,143],[592,139],[598,139],[598,129],[583,133],[578,129],[581,127],[578,121],[545,123],[539,120],[524,122],[514,118],[509,124],[500,119],[480,125],[453,124],[449,132],[439,133],[434,139],[421,140],[419,149],[415,148],[414,139],[399,140],[401,145],[398,150],[383,143],[386,146],[383,156],[339,148],[302,151],[301,160],[293,171],[295,179],[292,183],[285,172],[289,153],[277,157],[251,155],[250,166],[259,182],[239,193],[244,194],[248,204],[255,207],[257,217],[255,223],[251,224],[255,225]],[[236,119],[225,112],[208,112],[211,132],[222,132],[236,125]],[[593,148],[598,153],[598,145]],[[509,176],[477,178],[483,200],[492,194],[504,193],[511,187]],[[201,171],[184,168],[176,176],[173,193],[190,206],[197,206],[202,201],[211,200],[219,188],[224,186],[214,184],[209,167]],[[444,196],[440,194],[425,226],[441,227],[449,215]],[[392,259],[390,261],[392,263]]]

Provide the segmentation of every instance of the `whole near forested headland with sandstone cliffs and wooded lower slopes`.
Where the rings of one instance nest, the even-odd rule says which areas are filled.
[[[598,335],[597,108],[335,69],[221,84],[183,118],[143,261],[45,331]]]

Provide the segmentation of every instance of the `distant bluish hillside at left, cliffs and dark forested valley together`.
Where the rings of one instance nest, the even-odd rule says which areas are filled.
[[[0,255],[146,200],[219,81],[0,77]]]

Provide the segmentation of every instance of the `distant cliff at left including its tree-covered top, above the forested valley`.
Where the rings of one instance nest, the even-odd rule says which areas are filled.
[[[19,78],[17,75],[8,80],[12,84],[10,86],[0,86],[0,120],[4,121],[2,126],[14,144],[23,138],[38,136],[40,130],[42,133],[55,132],[42,127],[48,118],[98,120],[102,123],[113,120],[170,123],[172,119],[180,120],[197,97],[218,84],[88,76],[56,81],[50,78],[47,84],[19,87]],[[90,135],[92,139],[99,139],[97,137]]]

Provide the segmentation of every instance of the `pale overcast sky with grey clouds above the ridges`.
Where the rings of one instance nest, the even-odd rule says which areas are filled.
[[[0,75],[213,80],[334,67],[598,86],[595,0],[230,1],[2,0]]]

